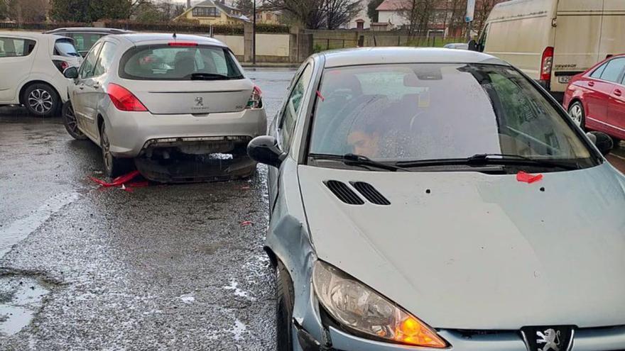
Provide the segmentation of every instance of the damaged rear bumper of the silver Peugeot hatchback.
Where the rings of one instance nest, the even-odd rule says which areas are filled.
[[[137,157],[153,140],[196,138],[192,143],[214,143],[221,137],[254,138],[266,133],[264,108],[232,113],[154,115],[149,112],[126,112],[112,104],[104,116],[111,152],[115,157]],[[219,152],[218,150],[216,152]]]

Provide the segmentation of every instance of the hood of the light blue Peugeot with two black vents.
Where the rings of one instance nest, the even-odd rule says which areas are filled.
[[[319,259],[435,328],[625,325],[625,182],[611,165],[534,184],[305,165],[298,177]],[[344,204],[327,180],[391,204]]]

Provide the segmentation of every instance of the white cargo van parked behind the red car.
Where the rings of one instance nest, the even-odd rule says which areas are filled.
[[[625,0],[502,2],[489,15],[478,50],[518,67],[560,97],[572,76],[625,52]]]

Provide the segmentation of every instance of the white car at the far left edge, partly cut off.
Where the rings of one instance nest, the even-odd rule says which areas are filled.
[[[50,116],[67,101],[62,72],[80,65],[72,39],[30,32],[0,32],[0,106],[24,105]]]

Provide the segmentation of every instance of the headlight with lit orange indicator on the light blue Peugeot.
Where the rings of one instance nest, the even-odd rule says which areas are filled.
[[[447,347],[428,325],[327,263],[315,263],[312,285],[325,310],[347,328],[408,345]]]

